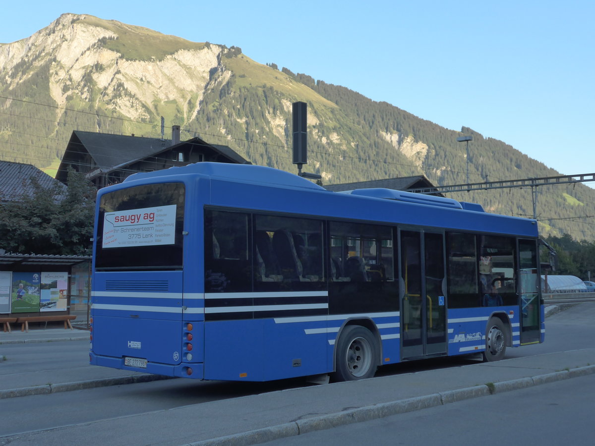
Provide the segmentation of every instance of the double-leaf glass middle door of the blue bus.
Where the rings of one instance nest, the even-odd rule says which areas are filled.
[[[402,359],[446,353],[443,237],[400,231]]]

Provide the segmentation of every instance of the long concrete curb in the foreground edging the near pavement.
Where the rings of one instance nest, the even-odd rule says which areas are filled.
[[[240,432],[239,434],[222,436],[203,441],[187,443],[181,446],[249,446],[267,441],[274,441],[289,436],[306,434],[308,432],[322,431],[336,428],[349,423],[357,423],[378,418],[383,418],[399,413],[414,412],[415,410],[428,409],[455,403],[456,401],[470,398],[484,397],[491,394],[520,390],[562,379],[576,378],[578,376],[595,373],[595,366],[585,366],[560,372],[546,373],[532,378],[512,379],[487,383],[458,390],[425,395],[424,397],[408,398],[406,400],[390,401],[389,403],[374,404],[374,406],[359,407],[345,412],[330,413],[318,417],[297,420],[295,422],[268,428],[255,429],[254,431]]]

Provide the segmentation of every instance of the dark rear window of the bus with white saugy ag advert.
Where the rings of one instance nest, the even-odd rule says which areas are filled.
[[[183,183],[104,194],[95,234],[95,269],[180,269],[183,219]]]

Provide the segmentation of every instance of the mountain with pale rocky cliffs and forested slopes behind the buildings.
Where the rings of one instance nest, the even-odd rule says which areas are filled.
[[[324,184],[418,174],[439,185],[465,183],[465,145],[456,142],[462,134],[473,136],[472,183],[558,175],[499,140],[259,64],[236,46],[75,14],[0,45],[0,157],[51,171],[73,130],[159,137],[164,117],[168,128],[181,126],[182,139],[198,134],[254,164],[296,172],[290,150],[296,100],[308,103],[305,170],[322,175]],[[449,196],[489,212],[533,215],[530,189]],[[595,190],[583,184],[540,187],[540,228],[545,235],[594,240],[594,203]]]

